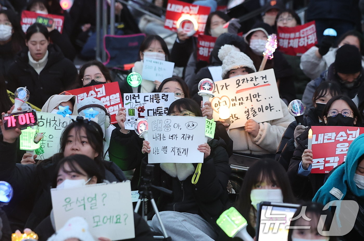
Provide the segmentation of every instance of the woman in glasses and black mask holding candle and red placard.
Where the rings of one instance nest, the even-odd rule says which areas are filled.
[[[337,95],[327,102],[322,119],[323,122],[314,126],[362,126],[358,108],[345,95]],[[313,198],[328,176],[328,173],[310,174],[313,155],[312,150],[307,149],[309,129],[296,138],[298,144],[287,171],[293,193],[306,201]]]

